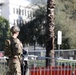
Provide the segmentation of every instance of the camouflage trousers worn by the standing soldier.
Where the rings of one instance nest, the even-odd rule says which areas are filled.
[[[21,75],[21,64],[18,58],[9,59],[9,75]]]

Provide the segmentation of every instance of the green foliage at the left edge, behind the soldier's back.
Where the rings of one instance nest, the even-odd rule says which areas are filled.
[[[7,37],[9,37],[9,23],[0,16],[0,50],[3,50],[4,41]]]

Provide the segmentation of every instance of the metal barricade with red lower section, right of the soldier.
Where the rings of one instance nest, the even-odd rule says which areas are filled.
[[[48,67],[45,67],[44,59],[29,60],[30,75],[76,75],[76,60],[71,59],[55,59],[55,60],[56,65]]]

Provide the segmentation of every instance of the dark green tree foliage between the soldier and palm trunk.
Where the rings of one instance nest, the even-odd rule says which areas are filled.
[[[45,42],[45,16],[46,13],[44,9],[38,9],[35,12],[35,19],[28,22],[27,24],[21,27],[21,32],[19,38],[23,43],[31,43],[33,44],[34,41],[43,45]],[[36,39],[34,40],[34,36]]]

